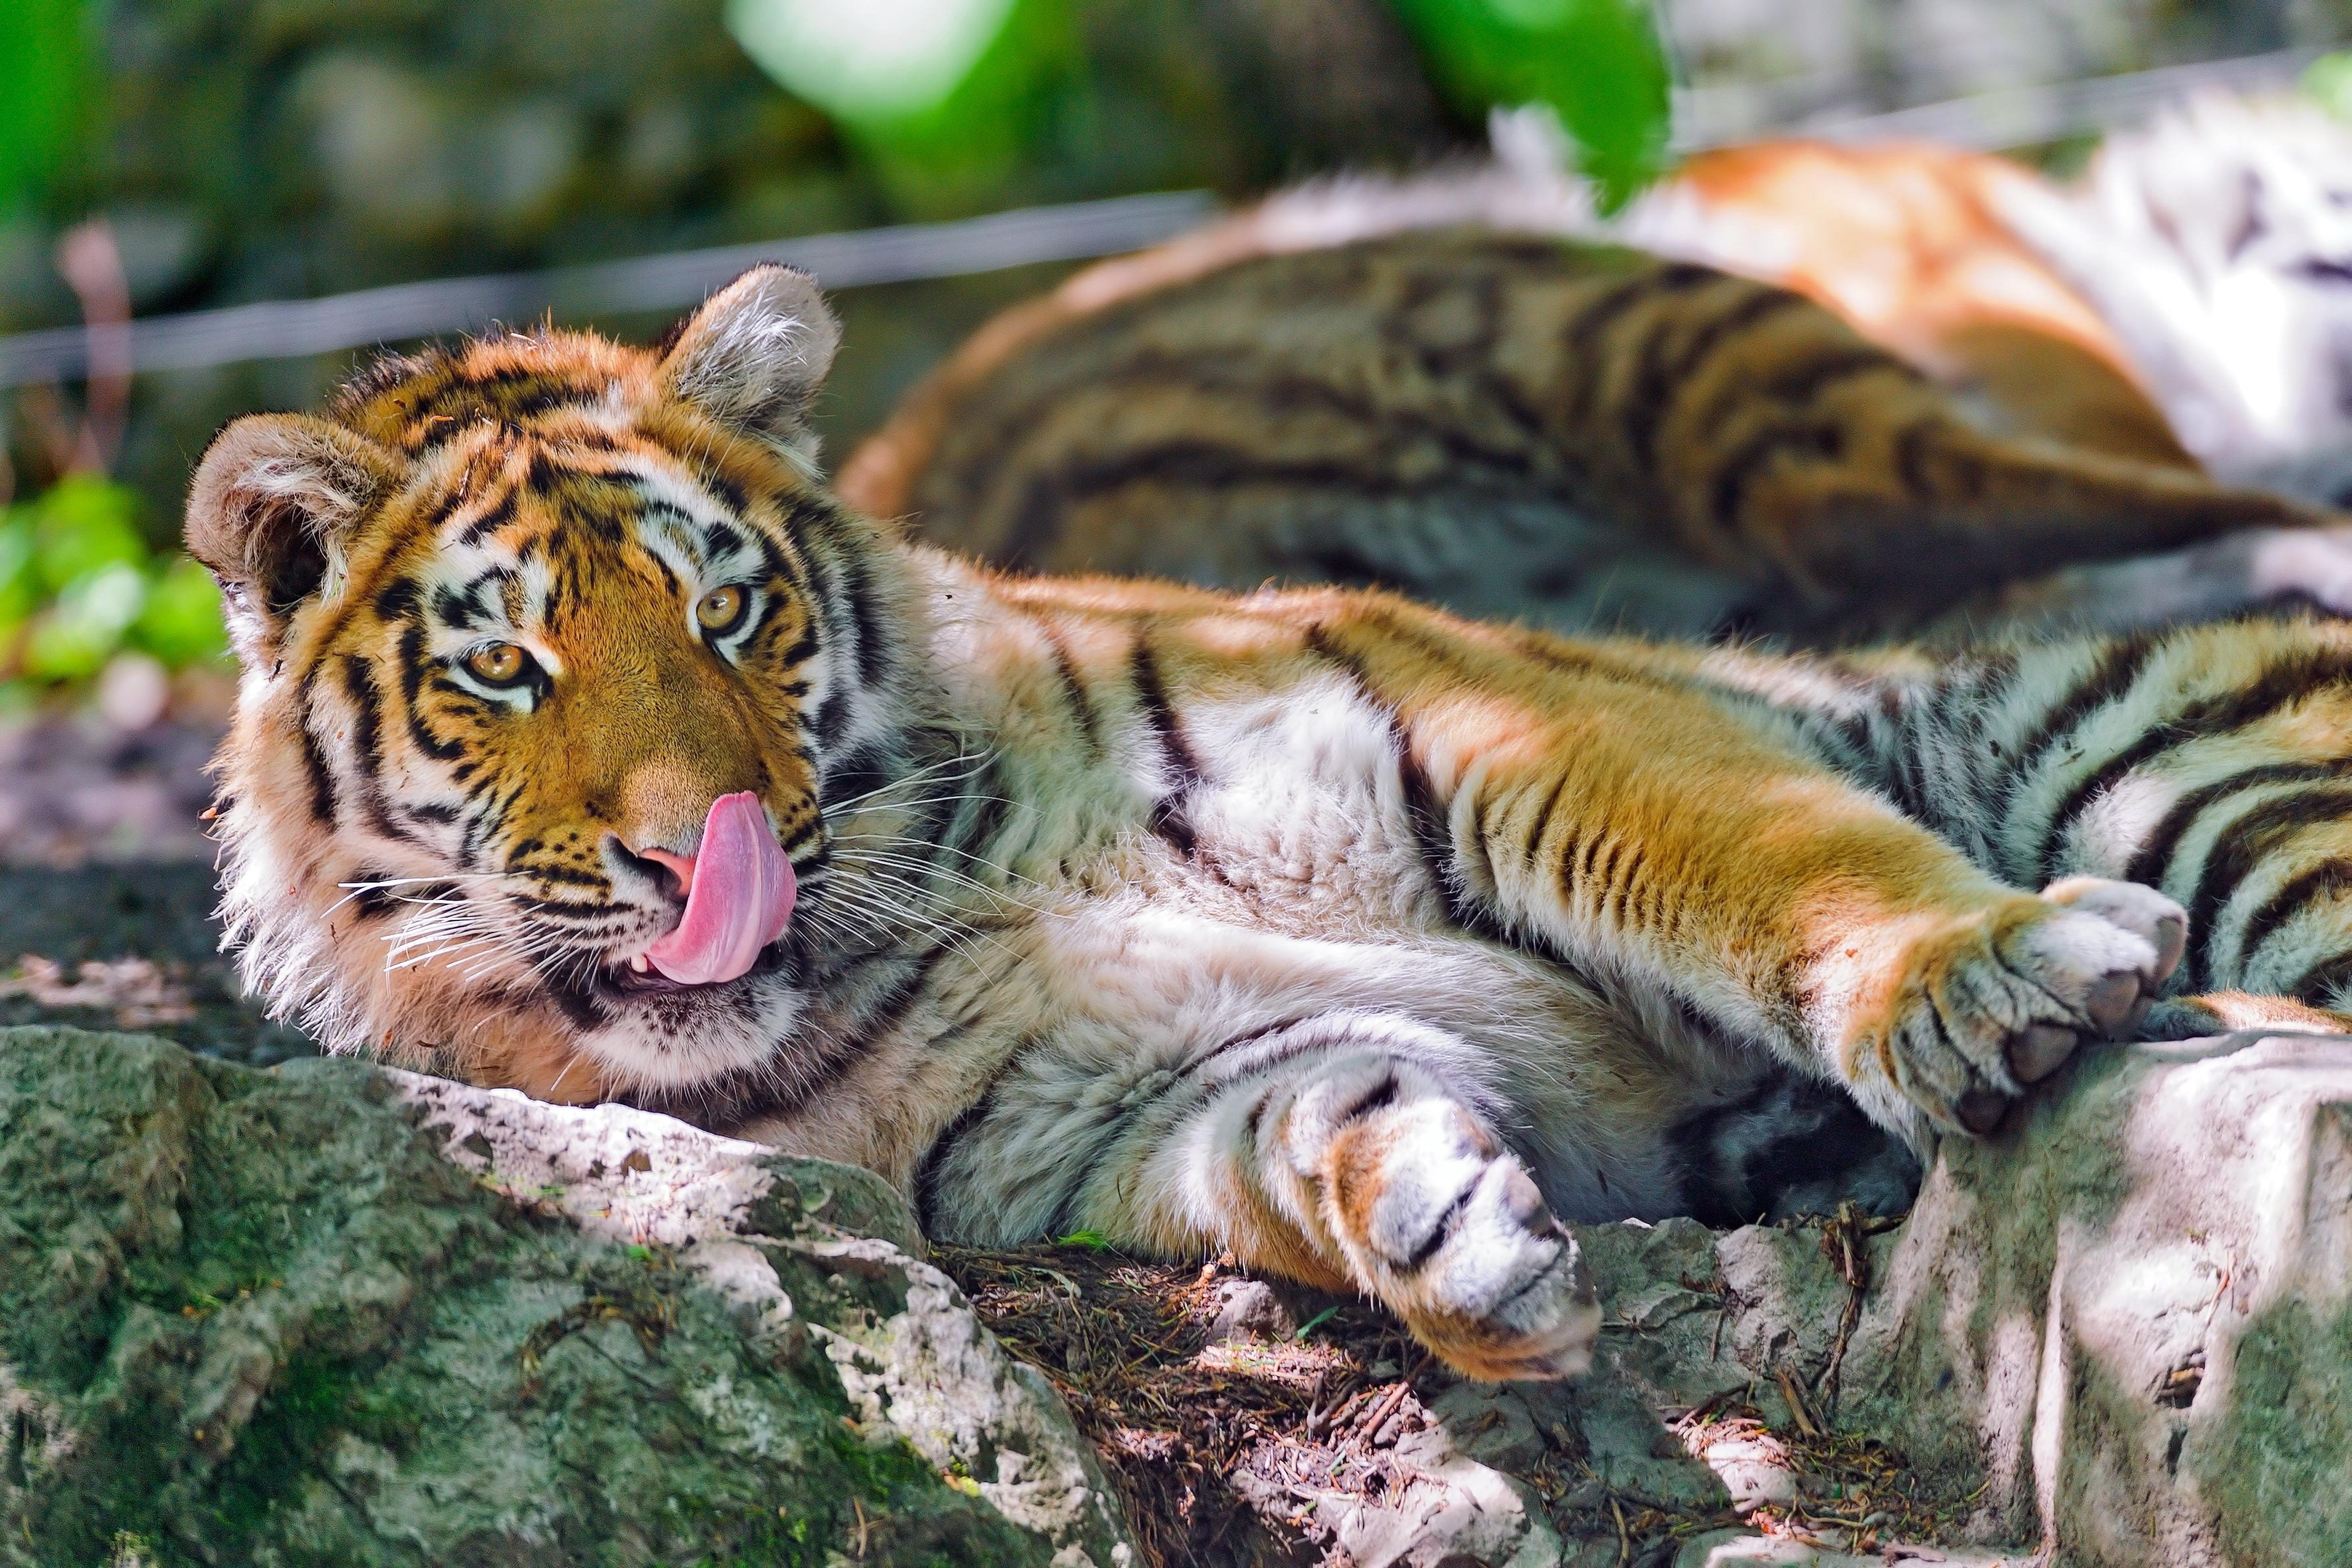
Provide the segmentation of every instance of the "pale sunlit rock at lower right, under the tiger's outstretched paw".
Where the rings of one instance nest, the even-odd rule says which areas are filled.
[[[1846,1420],[2056,1563],[2352,1561],[2352,1039],[2093,1053],[1947,1145]]]

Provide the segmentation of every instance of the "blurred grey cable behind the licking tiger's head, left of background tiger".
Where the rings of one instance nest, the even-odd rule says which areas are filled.
[[[1122,195],[1108,202],[1023,207],[955,223],[903,223],[840,235],[724,244],[668,256],[600,261],[543,273],[440,277],[325,299],[287,299],[129,327],[136,371],[198,369],[480,331],[553,310],[562,320],[677,310],[757,261],[786,261],[828,289],[917,277],[960,277],[1033,261],[1080,261],[1157,244],[1214,212],[1207,190]],[[0,339],[0,386],[68,381],[89,369],[89,329],[56,327]]]

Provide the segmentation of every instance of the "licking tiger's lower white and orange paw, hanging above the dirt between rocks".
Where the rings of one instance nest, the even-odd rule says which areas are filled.
[[[1573,1237],[1515,1154],[1409,1077],[1364,1063],[1301,1105],[1303,1124],[1331,1128],[1315,1164],[1357,1284],[1468,1378],[1585,1371],[1602,1312]]]

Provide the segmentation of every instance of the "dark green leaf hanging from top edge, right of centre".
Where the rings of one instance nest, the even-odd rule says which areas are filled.
[[[1665,47],[1642,0],[1392,0],[1458,108],[1545,103],[1602,207],[1665,167]]]

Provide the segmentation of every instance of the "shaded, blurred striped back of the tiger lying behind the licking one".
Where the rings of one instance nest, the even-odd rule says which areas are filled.
[[[2194,473],[1990,435],[1788,289],[1482,228],[1073,280],[842,475],[1042,571],[1395,585],[1658,635],[1900,630],[2072,562],[2310,524]]]

